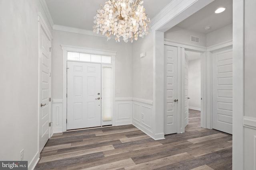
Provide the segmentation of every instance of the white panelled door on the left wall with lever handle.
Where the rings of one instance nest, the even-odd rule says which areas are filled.
[[[40,28],[39,152],[50,138],[50,40]]]

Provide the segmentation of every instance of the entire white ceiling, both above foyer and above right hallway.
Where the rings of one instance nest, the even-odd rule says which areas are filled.
[[[146,14],[150,19],[154,18],[172,0],[144,0]],[[105,0],[46,0],[46,4],[56,25],[93,30],[93,17],[100,4]],[[226,7],[226,11],[215,14],[218,7]],[[215,0],[208,6],[196,12],[177,26],[200,33],[209,33],[220,27],[232,23],[232,0]],[[211,29],[204,27],[210,25]]]

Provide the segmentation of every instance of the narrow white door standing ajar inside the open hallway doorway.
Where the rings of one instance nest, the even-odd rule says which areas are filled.
[[[184,55],[184,127],[188,125],[188,55]]]

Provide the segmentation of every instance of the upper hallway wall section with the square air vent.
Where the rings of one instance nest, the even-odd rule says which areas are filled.
[[[190,40],[190,35],[199,37],[199,43],[192,42]],[[190,31],[188,29],[183,29],[178,26],[174,26],[166,31],[164,33],[164,38],[189,45],[199,45],[206,47],[206,34]]]

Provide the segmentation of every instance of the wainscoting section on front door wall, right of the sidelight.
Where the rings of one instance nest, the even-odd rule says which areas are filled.
[[[115,125],[132,124],[132,99],[116,98],[116,121]]]

